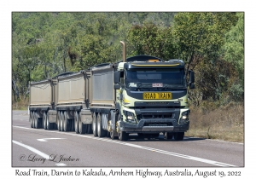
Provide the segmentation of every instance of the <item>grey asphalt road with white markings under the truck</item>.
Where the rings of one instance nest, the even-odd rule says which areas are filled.
[[[163,136],[128,141],[32,129],[26,111],[12,113],[12,167],[243,167],[242,143]]]

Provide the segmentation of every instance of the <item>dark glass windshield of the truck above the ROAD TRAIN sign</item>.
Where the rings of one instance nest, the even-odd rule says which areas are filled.
[[[137,69],[125,71],[130,90],[174,90],[186,88],[183,69]]]

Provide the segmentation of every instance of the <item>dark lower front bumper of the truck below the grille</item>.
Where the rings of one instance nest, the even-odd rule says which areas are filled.
[[[185,132],[189,130],[189,121],[185,124],[177,124],[176,119],[141,119],[138,124],[119,122],[121,131],[125,132]]]

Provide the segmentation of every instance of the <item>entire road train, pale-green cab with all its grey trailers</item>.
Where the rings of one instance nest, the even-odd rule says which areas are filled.
[[[110,136],[121,141],[129,134],[183,140],[189,130],[188,88],[182,60],[163,61],[150,55],[65,72],[30,83],[32,128]]]

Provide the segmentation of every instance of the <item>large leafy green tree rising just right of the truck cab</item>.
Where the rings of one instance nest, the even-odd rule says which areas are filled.
[[[201,99],[216,101],[226,90],[230,71],[223,69],[221,48],[224,35],[236,25],[236,13],[178,13],[174,18],[173,33],[177,45],[177,58],[187,62],[187,72],[197,74],[196,84]],[[193,94],[195,95],[195,94]]]

